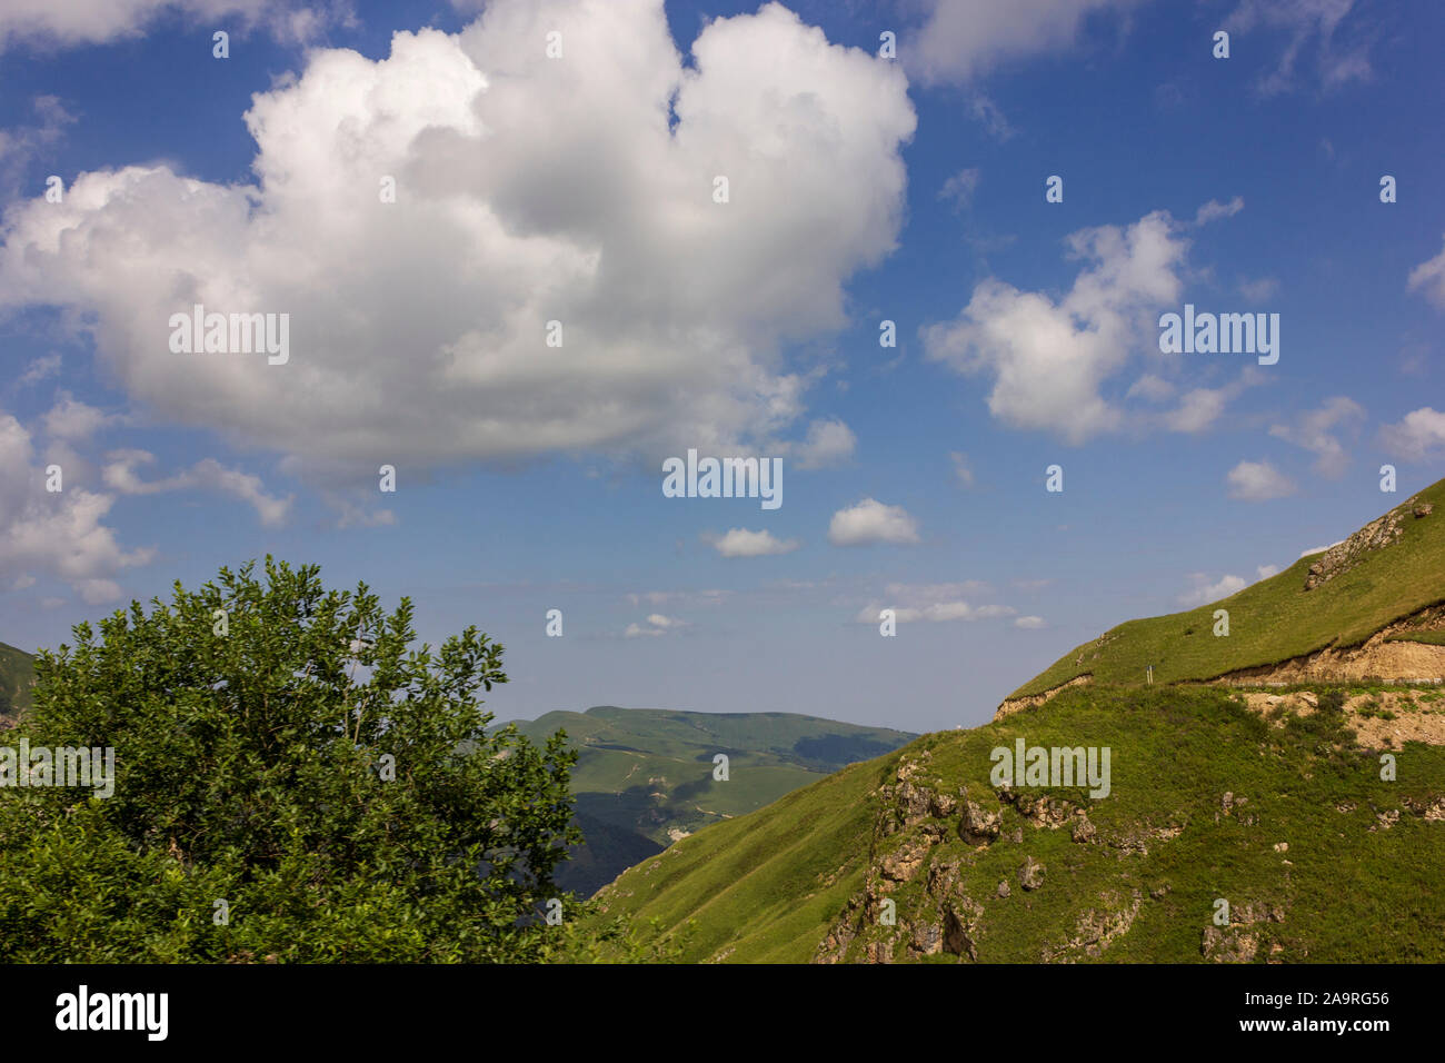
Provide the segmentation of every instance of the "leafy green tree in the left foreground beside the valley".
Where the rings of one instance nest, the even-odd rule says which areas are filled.
[[[546,959],[575,754],[487,732],[501,646],[253,571],[39,657],[4,745],[111,746],[114,794],[0,788],[0,960]]]

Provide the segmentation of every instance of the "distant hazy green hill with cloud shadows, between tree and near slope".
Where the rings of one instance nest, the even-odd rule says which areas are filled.
[[[795,713],[688,713],[598,706],[552,712],[517,729],[533,740],[564,730],[587,843],[558,882],[590,895],[675,837],[762,808],[840,768],[916,738]],[[714,756],[728,758],[715,780]]]

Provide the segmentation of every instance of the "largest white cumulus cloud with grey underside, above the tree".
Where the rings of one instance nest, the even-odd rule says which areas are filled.
[[[353,480],[779,437],[809,382],[783,347],[845,325],[845,282],[894,247],[916,123],[896,64],[777,4],[707,23],[685,67],[660,0],[499,0],[384,59],[315,49],[244,117],[254,185],[140,165],[20,204],[0,311],[72,311],[159,418]],[[289,362],[172,353],[194,304],[289,314]]]

